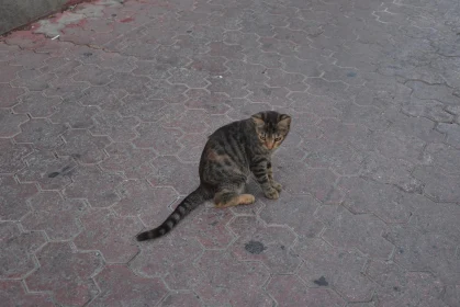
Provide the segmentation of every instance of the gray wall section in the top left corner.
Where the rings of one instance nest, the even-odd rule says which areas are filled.
[[[45,16],[69,0],[0,0],[0,34]]]

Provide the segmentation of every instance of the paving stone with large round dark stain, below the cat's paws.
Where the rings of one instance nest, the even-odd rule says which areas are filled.
[[[263,262],[273,273],[292,273],[300,259],[292,251],[295,236],[287,228],[263,226],[256,217],[239,216],[229,228],[238,235],[232,252],[244,261]]]

